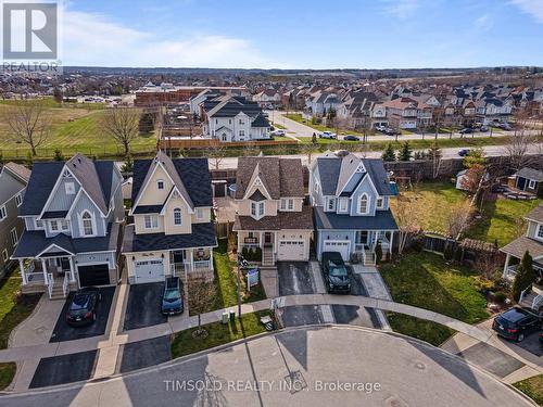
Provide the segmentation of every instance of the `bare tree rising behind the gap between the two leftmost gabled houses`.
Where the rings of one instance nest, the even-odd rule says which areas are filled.
[[[100,129],[113,138],[124,149],[124,155],[130,152],[130,143],[138,137],[141,112],[135,107],[106,109],[99,122]]]

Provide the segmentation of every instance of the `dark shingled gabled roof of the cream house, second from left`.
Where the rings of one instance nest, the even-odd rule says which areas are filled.
[[[159,154],[157,154],[159,156]],[[161,152],[161,157],[165,154]],[[132,183],[132,202],[137,201],[143,186],[149,179],[150,171],[152,171],[152,164],[155,160],[136,160],[134,163],[134,183]],[[187,196],[184,196],[187,202],[191,202],[195,206],[213,206],[213,194],[211,190],[211,176],[207,164],[207,158],[175,158],[167,157],[168,164],[165,168],[172,171],[182,183]],[[172,177],[172,174],[171,174]],[[174,182],[175,183],[175,182]],[[176,183],[177,186],[177,183]],[[179,192],[181,190],[179,189]],[[140,206],[138,206],[140,208]],[[138,213],[138,208],[134,208]],[[156,209],[156,208],[153,208]]]

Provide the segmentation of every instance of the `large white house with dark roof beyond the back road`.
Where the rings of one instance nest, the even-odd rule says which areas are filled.
[[[256,102],[223,96],[203,102],[204,137],[223,142],[270,139],[270,124]]]

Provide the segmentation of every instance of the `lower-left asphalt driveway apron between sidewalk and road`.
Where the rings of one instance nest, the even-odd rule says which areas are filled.
[[[97,364],[98,351],[42,358],[30,382],[30,389],[89,380]],[[47,405],[47,404],[43,404]]]

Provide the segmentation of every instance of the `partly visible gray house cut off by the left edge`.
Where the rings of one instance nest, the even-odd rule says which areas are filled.
[[[23,234],[25,224],[17,217],[17,212],[29,178],[30,170],[15,163],[5,164],[0,171],[0,277],[5,275],[10,257]]]

